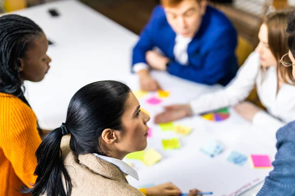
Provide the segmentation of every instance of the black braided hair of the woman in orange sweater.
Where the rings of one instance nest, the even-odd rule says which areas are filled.
[[[15,14],[0,17],[0,93],[14,95],[29,107],[20,77],[19,59],[25,56],[32,38],[42,32],[38,25],[26,17]],[[37,128],[41,134],[39,125]]]

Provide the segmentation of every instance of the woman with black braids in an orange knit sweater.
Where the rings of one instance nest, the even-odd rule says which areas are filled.
[[[24,196],[36,177],[41,143],[37,119],[24,96],[24,81],[41,81],[49,70],[42,29],[18,15],[0,17],[0,196]]]

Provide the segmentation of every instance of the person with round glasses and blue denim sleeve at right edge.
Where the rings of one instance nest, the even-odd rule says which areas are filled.
[[[295,78],[295,10],[289,15],[287,32],[290,33],[287,41],[289,52],[283,55],[280,62],[289,70],[293,68]],[[286,104],[289,101],[292,106],[294,98],[288,98]],[[295,196],[295,121],[280,128],[276,138],[277,153],[272,163],[273,171],[266,177],[257,196]]]

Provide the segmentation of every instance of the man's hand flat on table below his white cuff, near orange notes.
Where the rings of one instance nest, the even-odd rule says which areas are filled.
[[[149,75],[148,70],[141,70],[139,71],[138,75],[139,75],[141,90],[143,91],[161,90],[159,83]]]

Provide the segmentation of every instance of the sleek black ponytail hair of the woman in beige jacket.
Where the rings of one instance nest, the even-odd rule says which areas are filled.
[[[71,133],[70,148],[76,154],[106,155],[101,150],[99,138],[106,128],[123,130],[121,117],[129,92],[129,87],[121,82],[99,81],[81,88],[74,95],[63,125]],[[62,135],[61,127],[51,131],[36,151],[35,175],[38,177],[30,190],[32,196],[69,196],[71,193],[71,180],[59,155]]]

